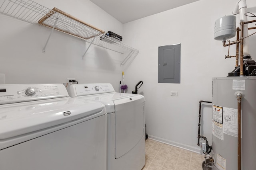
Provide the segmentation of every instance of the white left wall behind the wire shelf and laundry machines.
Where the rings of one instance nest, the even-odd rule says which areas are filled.
[[[123,25],[89,0],[36,0],[47,8],[59,8],[99,29],[123,34]],[[109,82],[119,90],[122,80],[120,53],[91,46],[76,37],[26,23],[0,14],[0,73],[6,84],[63,83],[76,78],[79,83]]]

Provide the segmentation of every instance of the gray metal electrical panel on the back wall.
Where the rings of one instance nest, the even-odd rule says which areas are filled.
[[[158,83],[180,83],[180,44],[158,47]]]

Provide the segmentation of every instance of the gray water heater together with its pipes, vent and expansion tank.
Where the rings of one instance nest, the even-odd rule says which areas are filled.
[[[212,146],[198,133],[198,145],[199,139],[203,140],[204,170],[256,170],[256,63],[248,44],[248,29],[256,29],[248,24],[256,20],[247,21],[246,8],[246,1],[239,0],[233,11],[240,13],[240,28],[236,28],[235,16],[215,22],[214,39],[222,40],[224,47],[236,45],[236,55],[229,55],[228,49],[225,56],[236,57],[236,66],[228,77],[212,78]],[[226,44],[226,39],[235,35],[236,41]],[[200,122],[198,127],[200,130]]]

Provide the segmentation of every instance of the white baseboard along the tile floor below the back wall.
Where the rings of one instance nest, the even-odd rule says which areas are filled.
[[[186,144],[183,144],[183,143],[178,143],[178,142],[170,141],[168,139],[164,139],[164,138],[160,138],[160,137],[155,137],[155,136],[152,136],[152,135],[148,135],[148,139],[152,139],[154,141],[162,142],[162,143],[165,143],[165,144],[168,144],[168,145],[172,145],[174,147],[178,147],[178,148],[189,150],[191,152],[202,154],[201,153],[201,149],[199,147],[192,147],[190,145],[186,145]]]

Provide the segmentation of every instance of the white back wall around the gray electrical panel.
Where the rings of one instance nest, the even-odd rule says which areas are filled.
[[[200,152],[197,146],[199,101],[211,101],[212,77],[227,76],[235,66],[234,58],[224,59],[228,47],[214,40],[214,22],[232,15],[236,2],[200,0],[124,24],[126,43],[140,51],[126,71],[128,92],[143,80],[139,93],[146,98],[149,137]],[[247,4],[253,7],[248,11],[255,14],[256,1],[247,0]],[[253,36],[251,47],[256,42]],[[181,43],[181,83],[158,83],[158,47],[176,43]],[[230,55],[235,52],[235,47],[230,47]],[[256,59],[255,48],[251,52]],[[178,92],[178,97],[170,96],[171,91]],[[211,144],[211,105],[203,104],[202,114],[202,135]]]

